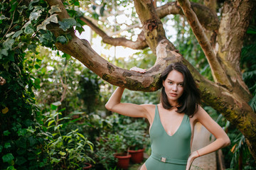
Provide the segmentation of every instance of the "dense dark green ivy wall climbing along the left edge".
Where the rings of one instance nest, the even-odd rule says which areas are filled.
[[[21,1],[0,4],[0,76],[6,79],[0,87],[0,169],[47,169],[44,147],[48,139],[46,129],[38,123],[41,115],[33,93],[38,81],[30,74],[33,62],[25,64],[26,54],[36,60],[33,53],[39,40],[33,25],[41,11],[36,5],[46,6],[44,2],[28,7]],[[35,15],[30,15],[33,10]],[[25,24],[28,20],[31,24]]]

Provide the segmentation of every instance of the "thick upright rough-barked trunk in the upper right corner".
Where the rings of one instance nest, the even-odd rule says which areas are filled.
[[[230,77],[234,91],[240,93],[245,101],[250,101],[252,95],[242,80],[240,52],[250,18],[255,11],[256,1],[225,1],[218,30],[218,57]]]

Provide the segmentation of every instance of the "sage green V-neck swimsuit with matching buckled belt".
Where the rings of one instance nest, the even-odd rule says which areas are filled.
[[[191,125],[188,115],[184,115],[181,125],[174,135],[164,130],[156,106],[154,121],[149,131],[151,156],[146,160],[147,170],[185,170],[191,153]]]

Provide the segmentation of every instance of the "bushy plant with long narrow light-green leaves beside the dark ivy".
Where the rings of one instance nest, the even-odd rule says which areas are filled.
[[[50,111],[46,115],[46,127],[48,128],[48,157],[53,169],[82,169],[85,162],[93,162],[89,154],[93,152],[92,142],[76,130],[64,128],[70,125],[72,121],[62,116],[58,111],[60,102],[52,103]]]

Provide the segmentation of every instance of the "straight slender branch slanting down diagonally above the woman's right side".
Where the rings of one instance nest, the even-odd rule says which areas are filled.
[[[183,13],[185,13],[187,21],[190,24],[193,33],[196,35],[196,39],[198,40],[199,44],[203,49],[203,52],[206,55],[208,63],[210,64],[210,69],[212,71],[214,81],[218,84],[221,84],[222,86],[228,87],[228,89],[231,90],[232,86],[230,84],[230,81],[225,74],[225,71],[221,67],[220,62],[215,56],[215,53],[213,52],[213,47],[210,45],[210,42],[206,37],[206,34],[204,33],[201,24],[198,21],[196,13],[191,8],[190,2],[188,0],[178,0],[178,2],[181,4]]]

